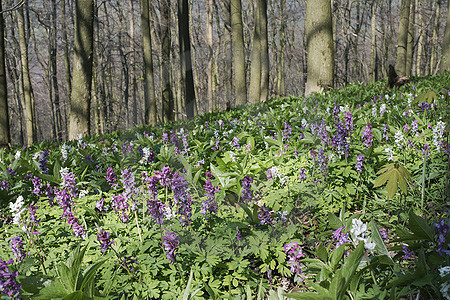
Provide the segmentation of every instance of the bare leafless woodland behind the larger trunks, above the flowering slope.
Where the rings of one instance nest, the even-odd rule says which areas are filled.
[[[89,133],[108,133],[145,125],[143,13],[148,13],[152,81],[156,100],[153,123],[186,117],[180,53],[191,59],[194,114],[223,110],[246,102],[283,95],[304,95],[308,74],[306,0],[95,0],[93,1],[92,89]],[[76,5],[92,0],[2,0],[9,143],[66,140],[73,85]],[[232,47],[232,3],[241,5],[245,95],[236,90]],[[323,0],[318,2],[324,2]],[[370,82],[387,77],[389,64],[399,75],[425,76],[446,68],[448,7],[446,0],[326,0],[331,8],[331,86]],[[256,4],[255,4],[256,3]],[[145,5],[149,5],[145,10]],[[408,12],[402,10],[408,6]],[[180,14],[180,9],[188,12]],[[89,6],[85,6],[89,7]],[[256,11],[262,9],[263,14]],[[403,14],[401,15],[401,12]],[[314,12],[310,12],[314,19]],[[320,13],[320,12],[318,12]],[[261,20],[261,16],[266,20]],[[180,18],[188,16],[188,27]],[[401,18],[402,16],[402,18]],[[404,67],[398,66],[399,35],[406,18],[408,38]],[[446,21],[447,20],[447,21]],[[184,20],[186,21],[186,20]],[[265,23],[267,31],[255,24]],[[186,24],[186,23],[184,23]],[[233,23],[236,24],[236,23]],[[403,27],[404,26],[403,22]],[[181,27],[180,27],[181,26]],[[180,30],[181,29],[181,30]],[[148,35],[148,34],[147,34]],[[261,35],[261,36],[258,36]],[[180,37],[189,37],[190,51],[180,51]],[[255,40],[267,46],[267,95],[251,89]],[[267,41],[264,40],[267,38]],[[148,40],[147,40],[148,42]],[[260,51],[259,54],[264,51]],[[260,68],[261,68],[260,65]],[[400,71],[401,70],[401,71]],[[404,71],[404,72],[403,72]],[[261,71],[263,72],[263,71]],[[404,73],[404,74],[403,74]],[[263,74],[263,73],[260,73]],[[29,84],[27,84],[29,76]],[[263,80],[262,80],[263,81]],[[261,81],[261,82],[262,82]],[[258,85],[259,95],[263,89]],[[248,97],[247,97],[248,90]],[[31,99],[26,99],[29,93]],[[258,94],[257,93],[257,94]],[[241,100],[239,97],[241,96]],[[2,98],[0,97],[0,98]],[[264,99],[265,98],[265,99]],[[239,100],[239,101],[238,101]],[[26,101],[31,101],[33,139],[27,139]],[[4,101],[3,101],[4,103]],[[5,107],[0,107],[5,110]],[[1,109],[0,109],[1,110]],[[150,122],[151,123],[151,122]],[[31,123],[30,123],[31,124]],[[30,129],[28,129],[30,131]],[[73,137],[72,137],[73,138]],[[3,143],[5,144],[5,143]]]

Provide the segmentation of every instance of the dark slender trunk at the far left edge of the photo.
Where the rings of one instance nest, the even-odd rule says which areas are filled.
[[[3,10],[0,0],[0,11]],[[8,112],[8,86],[6,84],[6,60],[5,60],[5,22],[3,14],[0,14],[0,147],[11,143]]]

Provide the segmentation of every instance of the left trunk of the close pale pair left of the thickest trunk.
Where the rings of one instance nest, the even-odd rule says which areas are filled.
[[[260,1],[253,2],[253,42],[250,64],[250,103],[256,103],[261,96],[261,13]]]

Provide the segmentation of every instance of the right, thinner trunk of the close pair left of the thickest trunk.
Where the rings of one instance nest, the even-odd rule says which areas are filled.
[[[261,93],[259,101],[265,102],[269,99],[269,40],[267,32],[267,0],[260,1],[260,47],[261,47]]]

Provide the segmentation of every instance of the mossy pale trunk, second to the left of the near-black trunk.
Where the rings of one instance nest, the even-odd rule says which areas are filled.
[[[147,125],[156,125],[157,112],[149,14],[149,0],[141,0],[142,45],[144,48],[144,122]]]

